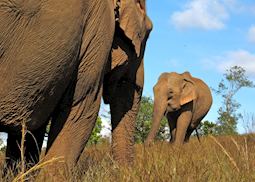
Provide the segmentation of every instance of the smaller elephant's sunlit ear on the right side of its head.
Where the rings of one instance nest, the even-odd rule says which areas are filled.
[[[184,72],[182,76],[183,76],[183,88],[180,104],[184,105],[197,99],[197,91],[195,83],[192,80],[192,76],[190,75],[190,73]]]

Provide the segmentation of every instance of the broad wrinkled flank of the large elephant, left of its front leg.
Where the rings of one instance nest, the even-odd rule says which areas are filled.
[[[0,0],[0,121],[43,120],[77,67],[80,0]]]

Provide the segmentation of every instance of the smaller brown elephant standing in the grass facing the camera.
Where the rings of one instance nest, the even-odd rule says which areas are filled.
[[[176,145],[188,142],[212,105],[209,87],[189,72],[171,72],[161,74],[153,91],[153,123],[146,144],[154,140],[164,115],[170,126],[170,142]]]

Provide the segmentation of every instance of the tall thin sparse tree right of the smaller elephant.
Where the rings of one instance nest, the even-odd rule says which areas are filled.
[[[242,115],[237,113],[241,104],[234,99],[234,96],[244,87],[252,88],[254,84],[248,80],[242,67],[233,66],[226,70],[218,88],[213,89],[216,94],[223,98],[222,106],[218,110],[217,134],[237,134],[237,121],[242,118]]]

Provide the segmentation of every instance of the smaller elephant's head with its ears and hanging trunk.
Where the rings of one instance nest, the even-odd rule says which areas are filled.
[[[154,139],[164,114],[178,112],[182,106],[197,98],[196,86],[189,72],[163,73],[153,88],[153,124],[148,142]]]

